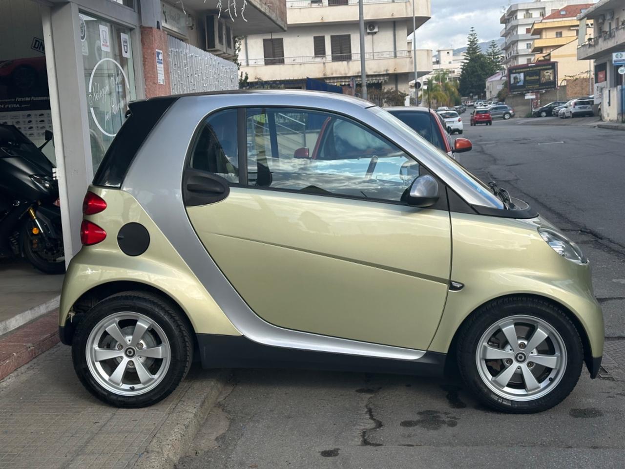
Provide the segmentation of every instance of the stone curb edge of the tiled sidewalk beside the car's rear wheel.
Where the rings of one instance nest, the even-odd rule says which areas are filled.
[[[133,469],[171,469],[186,454],[197,430],[226,385],[229,370],[202,370],[139,456]]]

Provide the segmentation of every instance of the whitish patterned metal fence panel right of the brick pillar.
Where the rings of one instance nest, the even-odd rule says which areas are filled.
[[[239,89],[236,64],[169,36],[171,93]]]

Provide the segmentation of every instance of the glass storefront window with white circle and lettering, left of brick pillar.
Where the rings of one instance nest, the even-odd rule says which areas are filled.
[[[79,14],[94,173],[136,99],[130,29]]]

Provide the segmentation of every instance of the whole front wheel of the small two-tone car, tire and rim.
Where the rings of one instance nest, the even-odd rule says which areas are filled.
[[[559,307],[512,297],[476,311],[461,331],[457,356],[462,379],[482,403],[509,413],[533,413],[571,393],[584,351]]]

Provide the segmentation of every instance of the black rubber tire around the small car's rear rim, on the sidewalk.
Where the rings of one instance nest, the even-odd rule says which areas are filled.
[[[148,318],[166,334],[171,348],[169,367],[158,385],[143,394],[124,396],[104,388],[94,378],[86,357],[89,335],[96,325],[107,316],[122,311],[133,311]],[[72,358],[74,370],[84,387],[99,400],[117,407],[137,408],[156,404],[176,389],[186,376],[193,358],[191,326],[177,308],[159,296],[141,291],[128,291],[109,296],[93,306],[79,321],[74,333]]]

